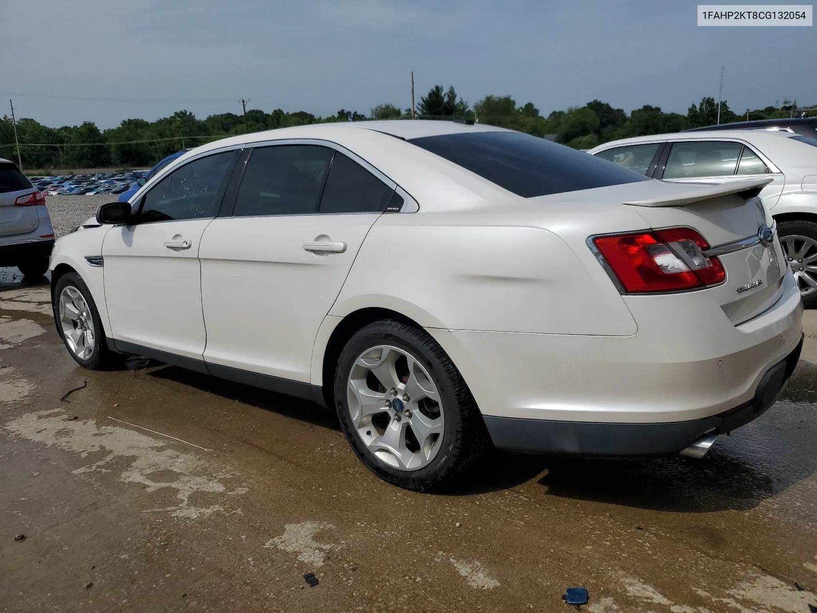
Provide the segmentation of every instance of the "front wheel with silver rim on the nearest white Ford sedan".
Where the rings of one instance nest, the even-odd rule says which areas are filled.
[[[121,364],[123,356],[108,348],[96,302],[81,276],[69,272],[60,277],[53,307],[56,328],[78,365],[104,370]]]

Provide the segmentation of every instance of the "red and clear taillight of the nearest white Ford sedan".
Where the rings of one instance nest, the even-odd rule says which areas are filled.
[[[726,278],[721,261],[703,254],[709,245],[691,228],[597,236],[593,244],[627,292],[679,292]]]

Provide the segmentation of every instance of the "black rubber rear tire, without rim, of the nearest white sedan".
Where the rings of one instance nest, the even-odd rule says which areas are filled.
[[[388,344],[418,360],[431,375],[444,410],[440,450],[423,468],[406,471],[378,459],[355,429],[346,396],[355,360],[369,348]],[[396,320],[382,320],[360,329],[350,338],[338,358],[335,374],[335,405],[346,441],[366,468],[383,481],[405,490],[429,491],[453,484],[490,447],[482,414],[462,376],[440,345],[422,329]]]

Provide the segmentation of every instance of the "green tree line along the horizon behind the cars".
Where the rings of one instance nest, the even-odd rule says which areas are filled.
[[[721,103],[721,123],[745,119],[776,119],[799,116],[796,102],[736,114],[726,101]],[[717,122],[717,102],[703,98],[691,105],[687,113],[665,113],[658,106],[644,105],[627,114],[606,102],[594,100],[580,108],[553,111],[543,116],[533,103],[517,104],[511,96],[485,96],[474,105],[457,96],[453,86],[431,87],[417,104],[414,115],[422,119],[475,121],[512,128],[534,136],[548,136],[576,149],[588,149],[600,143],[627,136],[644,136],[662,132],[679,132]],[[270,113],[252,109],[243,115],[222,113],[197,119],[187,110],[154,122],[125,119],[116,128],[100,130],[90,121],[79,126],[48,128],[36,119],[20,119],[17,136],[24,168],[105,168],[150,167],[168,154],[182,148],[203,145],[225,136],[261,132],[275,128],[330,123],[366,121],[368,119],[411,119],[410,109],[400,110],[385,103],[369,114],[339,110],[329,117],[305,111],[287,113],[275,109]],[[14,126],[10,117],[0,119],[0,157],[16,161]],[[42,146],[47,145],[47,146]]]

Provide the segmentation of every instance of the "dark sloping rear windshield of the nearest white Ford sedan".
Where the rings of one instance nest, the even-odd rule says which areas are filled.
[[[650,181],[637,172],[520,132],[466,132],[408,142],[523,198]]]

